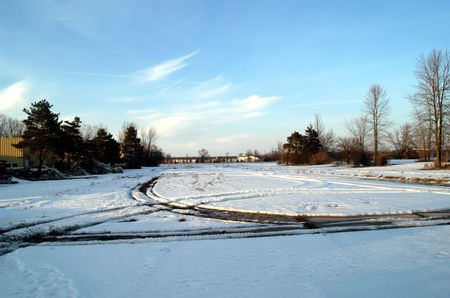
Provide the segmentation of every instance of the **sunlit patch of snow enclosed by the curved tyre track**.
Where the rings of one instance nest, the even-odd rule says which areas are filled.
[[[352,171],[354,175],[362,176],[361,170],[348,168],[294,169],[279,167],[274,171],[260,166],[239,171],[228,168],[221,172],[211,172],[211,168],[169,170],[158,181],[154,193],[161,201],[189,206],[301,215],[368,215],[450,209],[450,190],[442,187],[362,180],[335,174]],[[403,169],[411,169],[411,166],[403,166]],[[389,171],[386,168],[370,171],[392,173],[395,170],[393,167]],[[398,170],[395,173],[400,174]],[[427,200],[423,199],[424,195]]]

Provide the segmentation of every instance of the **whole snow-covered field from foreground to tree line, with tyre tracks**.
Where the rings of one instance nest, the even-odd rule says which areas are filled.
[[[162,166],[0,185],[1,297],[448,297],[450,226],[305,232],[167,207],[303,216],[450,210],[423,163]],[[159,177],[151,199],[131,190]],[[388,180],[386,180],[388,179]],[[283,229],[296,229],[285,233]],[[284,236],[283,236],[284,235]],[[37,245],[36,245],[37,244]]]

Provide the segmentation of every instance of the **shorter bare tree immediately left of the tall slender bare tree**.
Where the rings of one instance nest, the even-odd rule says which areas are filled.
[[[369,163],[367,157],[367,138],[369,136],[369,119],[367,116],[354,118],[350,122],[345,122],[345,127],[349,132],[352,142],[355,144],[358,158],[355,158],[355,164],[367,165]]]

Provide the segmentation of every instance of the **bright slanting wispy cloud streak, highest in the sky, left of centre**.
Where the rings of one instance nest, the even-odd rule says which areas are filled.
[[[188,64],[186,60],[197,55],[197,51],[187,54],[185,56],[164,61],[156,66],[141,70],[137,73],[141,83],[148,83],[164,79],[172,73],[185,68]]]

